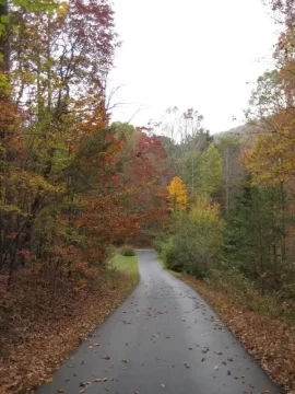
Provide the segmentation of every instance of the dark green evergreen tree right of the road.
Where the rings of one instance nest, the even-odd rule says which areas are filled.
[[[249,179],[248,179],[249,181]],[[291,267],[281,251],[280,188],[245,184],[224,229],[225,268],[236,268],[266,290],[281,290]]]

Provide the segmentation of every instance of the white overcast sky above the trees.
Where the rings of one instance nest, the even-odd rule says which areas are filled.
[[[243,124],[247,82],[271,67],[278,36],[261,0],[113,1],[122,45],[109,86],[125,103],[113,120],[144,126],[177,105],[198,109],[211,132]]]

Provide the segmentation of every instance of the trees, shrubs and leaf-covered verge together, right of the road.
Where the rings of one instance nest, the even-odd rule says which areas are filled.
[[[213,136],[198,112],[169,108],[163,143],[175,169],[170,217],[154,247],[216,309],[286,392],[295,389],[294,15],[247,125]],[[178,134],[177,134],[178,132]],[[180,142],[179,142],[180,141]]]

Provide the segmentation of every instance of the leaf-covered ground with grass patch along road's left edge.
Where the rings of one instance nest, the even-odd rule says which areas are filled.
[[[119,255],[91,288],[59,279],[54,299],[48,276],[35,270],[19,275],[14,289],[0,300],[0,393],[30,393],[50,381],[138,281],[137,257]]]

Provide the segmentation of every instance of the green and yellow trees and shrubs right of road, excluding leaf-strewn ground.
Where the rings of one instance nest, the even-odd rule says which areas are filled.
[[[176,174],[168,187],[170,224],[156,240],[167,267],[286,301],[295,296],[292,4],[272,4],[285,30],[274,69],[251,93],[245,126],[210,136],[198,112],[177,107],[155,125]],[[294,309],[288,312],[294,317]]]

